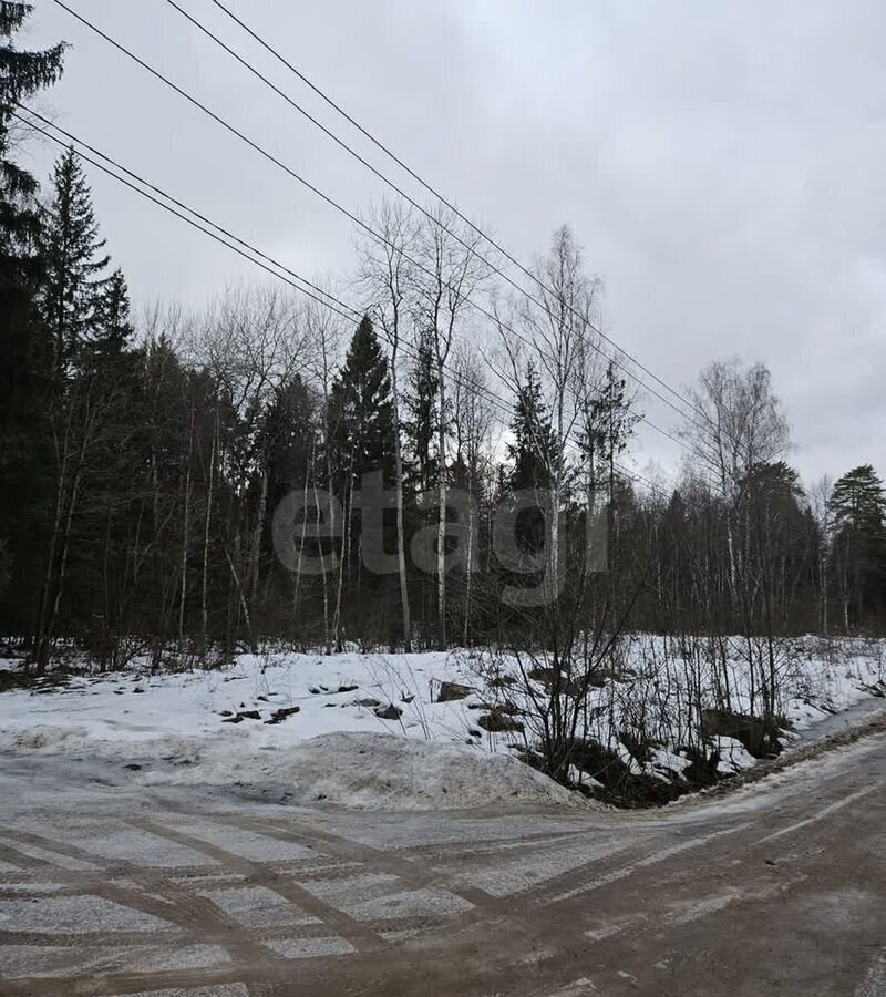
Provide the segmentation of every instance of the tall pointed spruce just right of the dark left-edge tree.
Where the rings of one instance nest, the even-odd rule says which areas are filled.
[[[39,305],[54,378],[49,419],[55,500],[34,630],[38,667],[49,660],[63,599],[75,592],[70,584],[75,554],[92,547],[76,543],[80,527],[92,515],[113,530],[125,504],[106,471],[125,466],[119,456],[131,432],[119,417],[130,410],[137,382],[137,360],[124,349],[131,332],[126,281],[119,270],[104,276],[110,257],[102,251],[92,195],[73,148],[55,164],[41,248],[45,274]]]

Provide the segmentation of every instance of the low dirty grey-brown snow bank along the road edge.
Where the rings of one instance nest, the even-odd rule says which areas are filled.
[[[91,739],[83,728],[39,727],[8,737],[6,743],[125,764],[133,780],[146,785],[226,787],[305,806],[425,811],[589,805],[513,756],[384,733],[339,731],[256,749],[239,732],[113,742]]]

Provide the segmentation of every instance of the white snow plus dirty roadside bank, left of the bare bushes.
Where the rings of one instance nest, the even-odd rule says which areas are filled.
[[[476,676],[466,658],[446,654],[279,654],[241,655],[216,671],[76,677],[58,691],[0,696],[0,748],[138,765],[133,778],[148,784],[272,785],[292,803],[577,804],[508,753],[513,734],[480,730],[476,696],[435,702],[443,681],[473,687]],[[379,706],[361,705],[370,700]],[[400,719],[380,719],[375,709],[391,705]],[[292,707],[279,723],[264,722]],[[251,710],[259,720],[222,716]]]

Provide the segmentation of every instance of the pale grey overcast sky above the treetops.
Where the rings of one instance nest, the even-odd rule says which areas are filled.
[[[388,171],[209,0],[179,2]],[[886,471],[882,0],[227,2],[513,254],[571,225],[605,280],[606,328],[659,377],[682,387],[713,359],[763,361],[807,482],[866,461]],[[166,0],[70,6],[346,206],[381,197]],[[25,43],[72,44],[41,110],[292,269],[352,266],[349,223],[53,0],[37,7]],[[32,155],[45,174],[52,152]],[[199,307],[256,273],[91,179],[137,304]],[[645,430],[633,461],[678,454]]]

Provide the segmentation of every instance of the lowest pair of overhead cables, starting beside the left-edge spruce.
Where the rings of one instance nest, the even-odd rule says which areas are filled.
[[[25,124],[28,127],[33,129],[39,134],[43,135],[44,137],[62,147],[68,147],[69,144],[79,146],[76,148],[76,153],[82,160],[90,163],[92,166],[95,166],[106,176],[110,176],[111,178],[117,181],[117,183],[123,184],[130,191],[140,194],[142,197],[163,208],[168,214],[174,215],[175,217],[187,223],[189,226],[203,233],[204,235],[209,236],[212,239],[225,246],[226,248],[231,249],[234,253],[237,253],[239,256],[249,260],[249,263],[254,264],[255,266],[260,267],[272,277],[276,277],[279,280],[284,280],[295,290],[299,291],[302,295],[306,295],[308,298],[311,298],[312,300],[322,305],[324,308],[330,309],[347,321],[357,325],[362,318],[363,312],[361,310],[346,304],[334,295],[329,294],[328,291],[323,290],[323,288],[300,276],[295,270],[286,267],[279,260],[276,260],[274,259],[274,257],[270,257],[267,254],[262,253],[260,249],[257,249],[245,239],[239,238],[225,227],[218,225],[202,213],[184,204],[184,202],[177,199],[171,194],[167,194],[161,187],[157,187],[150,181],[146,181],[134,171],[128,169],[126,166],[122,165],[119,161],[109,156],[106,153],[101,152],[95,146],[79,138],[72,132],[69,132],[65,129],[62,129],[60,125],[54,124],[53,122],[49,121],[49,119],[39,114],[33,109],[25,106],[24,104],[17,102],[17,106],[22,111],[25,111],[29,116],[25,117],[17,113],[16,111],[11,112],[12,115],[23,124]],[[58,135],[52,134],[52,132],[48,131],[47,127],[41,127],[40,125],[38,125],[33,119],[41,121],[49,129],[53,129],[54,131],[59,132],[59,134],[63,135],[66,141],[59,138]],[[87,152],[84,153],[83,150],[86,150]],[[104,160],[104,163],[100,162],[101,160]],[[107,166],[105,164],[111,164],[111,166]],[[111,168],[112,166],[113,168]],[[120,171],[120,173],[115,173],[115,169]],[[169,204],[166,204],[166,201],[168,201]],[[199,220],[195,222],[194,218],[188,217],[188,214],[193,215],[194,218],[197,218]],[[216,232],[213,232],[212,229],[216,229]],[[220,233],[222,235],[218,235],[217,233]],[[230,239],[230,241],[228,241],[228,239]],[[418,351],[413,350],[408,343],[400,343],[400,347],[409,356],[413,358],[419,357]],[[506,399],[503,399],[502,395],[499,395],[497,392],[474,380],[465,380],[457,371],[453,370],[452,367],[447,367],[446,370],[454,383],[484,394],[487,401],[505,415],[509,417],[511,414],[513,414],[513,408],[511,403],[508,403]],[[661,491],[657,485],[650,482],[649,479],[643,477],[643,475],[632,472],[620,464],[616,464],[616,467],[624,476],[640,482],[647,485],[652,491]]]

